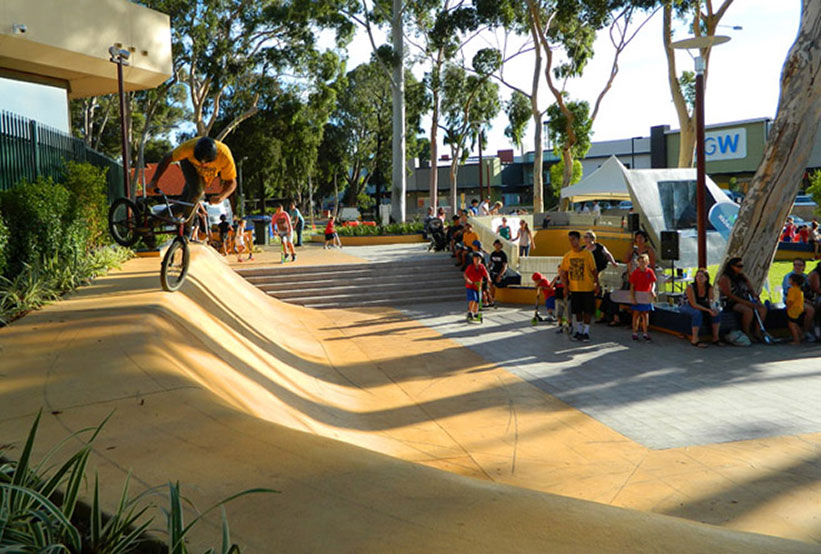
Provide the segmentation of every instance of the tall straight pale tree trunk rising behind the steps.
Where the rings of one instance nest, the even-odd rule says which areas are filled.
[[[402,27],[402,0],[393,0],[393,183],[391,216],[397,223],[405,222],[405,42]]]

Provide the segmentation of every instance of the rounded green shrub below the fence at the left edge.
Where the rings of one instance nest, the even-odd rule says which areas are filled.
[[[0,193],[0,212],[9,228],[6,275],[16,275],[25,264],[44,257],[66,253],[69,204],[68,190],[51,179],[24,182]]]

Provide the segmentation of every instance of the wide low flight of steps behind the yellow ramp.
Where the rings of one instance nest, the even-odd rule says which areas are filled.
[[[463,300],[465,282],[454,263],[444,253],[431,253],[424,260],[238,268],[237,273],[290,304],[361,308]]]

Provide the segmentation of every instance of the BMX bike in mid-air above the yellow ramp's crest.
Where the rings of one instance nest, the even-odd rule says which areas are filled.
[[[169,199],[160,192],[161,202],[147,198],[118,198],[108,210],[108,229],[117,244],[133,246],[141,238],[147,246],[156,245],[159,234],[174,234],[175,237],[165,251],[160,268],[160,283],[163,290],[178,290],[188,275],[190,251],[185,226],[189,217],[174,214],[172,206],[191,207],[195,204]]]

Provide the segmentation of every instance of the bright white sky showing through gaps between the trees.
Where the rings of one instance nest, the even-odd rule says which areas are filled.
[[[720,2],[713,2],[719,5]],[[719,34],[731,37],[729,43],[713,49],[710,59],[705,96],[707,125],[759,117],[773,118],[778,104],[780,74],[787,52],[795,40],[800,22],[800,0],[736,0],[722,18],[721,24],[742,26],[742,30],[722,27]],[[649,136],[650,127],[670,125],[678,128],[675,108],[667,84],[667,62],[662,47],[661,11],[641,29],[619,59],[619,73],[613,87],[604,98],[593,126],[593,140],[613,140],[634,136]],[[686,38],[689,32],[678,25],[674,40]],[[493,36],[475,39],[466,48],[469,65],[478,48],[496,47]],[[412,47],[408,47],[414,53]],[[348,49],[348,67],[368,61],[371,49],[367,36],[358,33]],[[574,99],[584,99],[592,105],[607,80],[612,64],[613,47],[606,32],[600,32],[595,44],[595,56],[580,79],[570,82],[567,90]],[[518,77],[515,84],[530,90],[532,57],[523,55],[505,68],[505,77]],[[677,54],[677,71],[693,71],[692,58],[686,51]],[[424,69],[416,68],[421,78]],[[552,103],[544,80],[541,84],[542,108]],[[510,90],[501,86],[504,98]],[[430,120],[424,121],[429,134]],[[489,132],[491,152],[510,148],[504,136],[507,116],[493,121]],[[527,130],[525,150],[532,150],[532,125]],[[440,133],[441,136],[441,133]],[[445,152],[441,150],[440,152]]]

